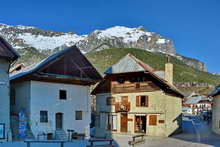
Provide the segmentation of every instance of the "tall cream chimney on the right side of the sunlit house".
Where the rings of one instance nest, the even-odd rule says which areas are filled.
[[[165,64],[165,80],[173,85],[173,64],[170,63],[169,55],[167,55],[167,63]]]

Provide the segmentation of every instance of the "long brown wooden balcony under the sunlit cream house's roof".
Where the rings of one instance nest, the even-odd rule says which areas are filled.
[[[113,93],[132,93],[155,91],[158,87],[152,82],[113,84],[111,91]]]

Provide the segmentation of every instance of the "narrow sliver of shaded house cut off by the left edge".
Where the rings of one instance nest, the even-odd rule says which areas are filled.
[[[9,69],[18,57],[11,45],[0,37],[0,140],[10,137]]]

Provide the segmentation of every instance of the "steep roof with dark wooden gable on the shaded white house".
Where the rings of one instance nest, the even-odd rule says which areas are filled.
[[[53,72],[51,73],[51,71]],[[81,78],[79,77],[81,73],[82,76],[86,76],[86,78],[94,81],[100,81],[102,79],[101,75],[76,46],[58,51],[37,64],[23,68],[15,74],[11,74],[10,81],[14,81],[34,73],[51,75],[65,74],[76,78]]]

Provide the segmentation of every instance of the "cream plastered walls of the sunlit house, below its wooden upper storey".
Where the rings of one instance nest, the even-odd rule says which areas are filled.
[[[148,107],[136,107],[136,97],[139,95],[148,96]],[[146,117],[146,135],[149,136],[169,136],[181,127],[181,99],[166,95],[163,91],[124,93],[124,94],[98,94],[96,97],[96,106],[99,116],[96,123],[96,136],[110,137],[115,133],[122,133],[120,117],[122,113],[115,112],[115,106],[107,106],[106,99],[114,97],[115,102],[121,102],[123,96],[128,96],[131,104],[128,112],[128,131],[126,134],[135,133],[135,116]],[[108,130],[107,118],[109,114],[117,116],[117,130]],[[157,115],[156,125],[149,124],[150,115]],[[100,121],[100,122],[99,122]],[[164,122],[163,122],[164,121]],[[123,134],[123,133],[122,133]]]

